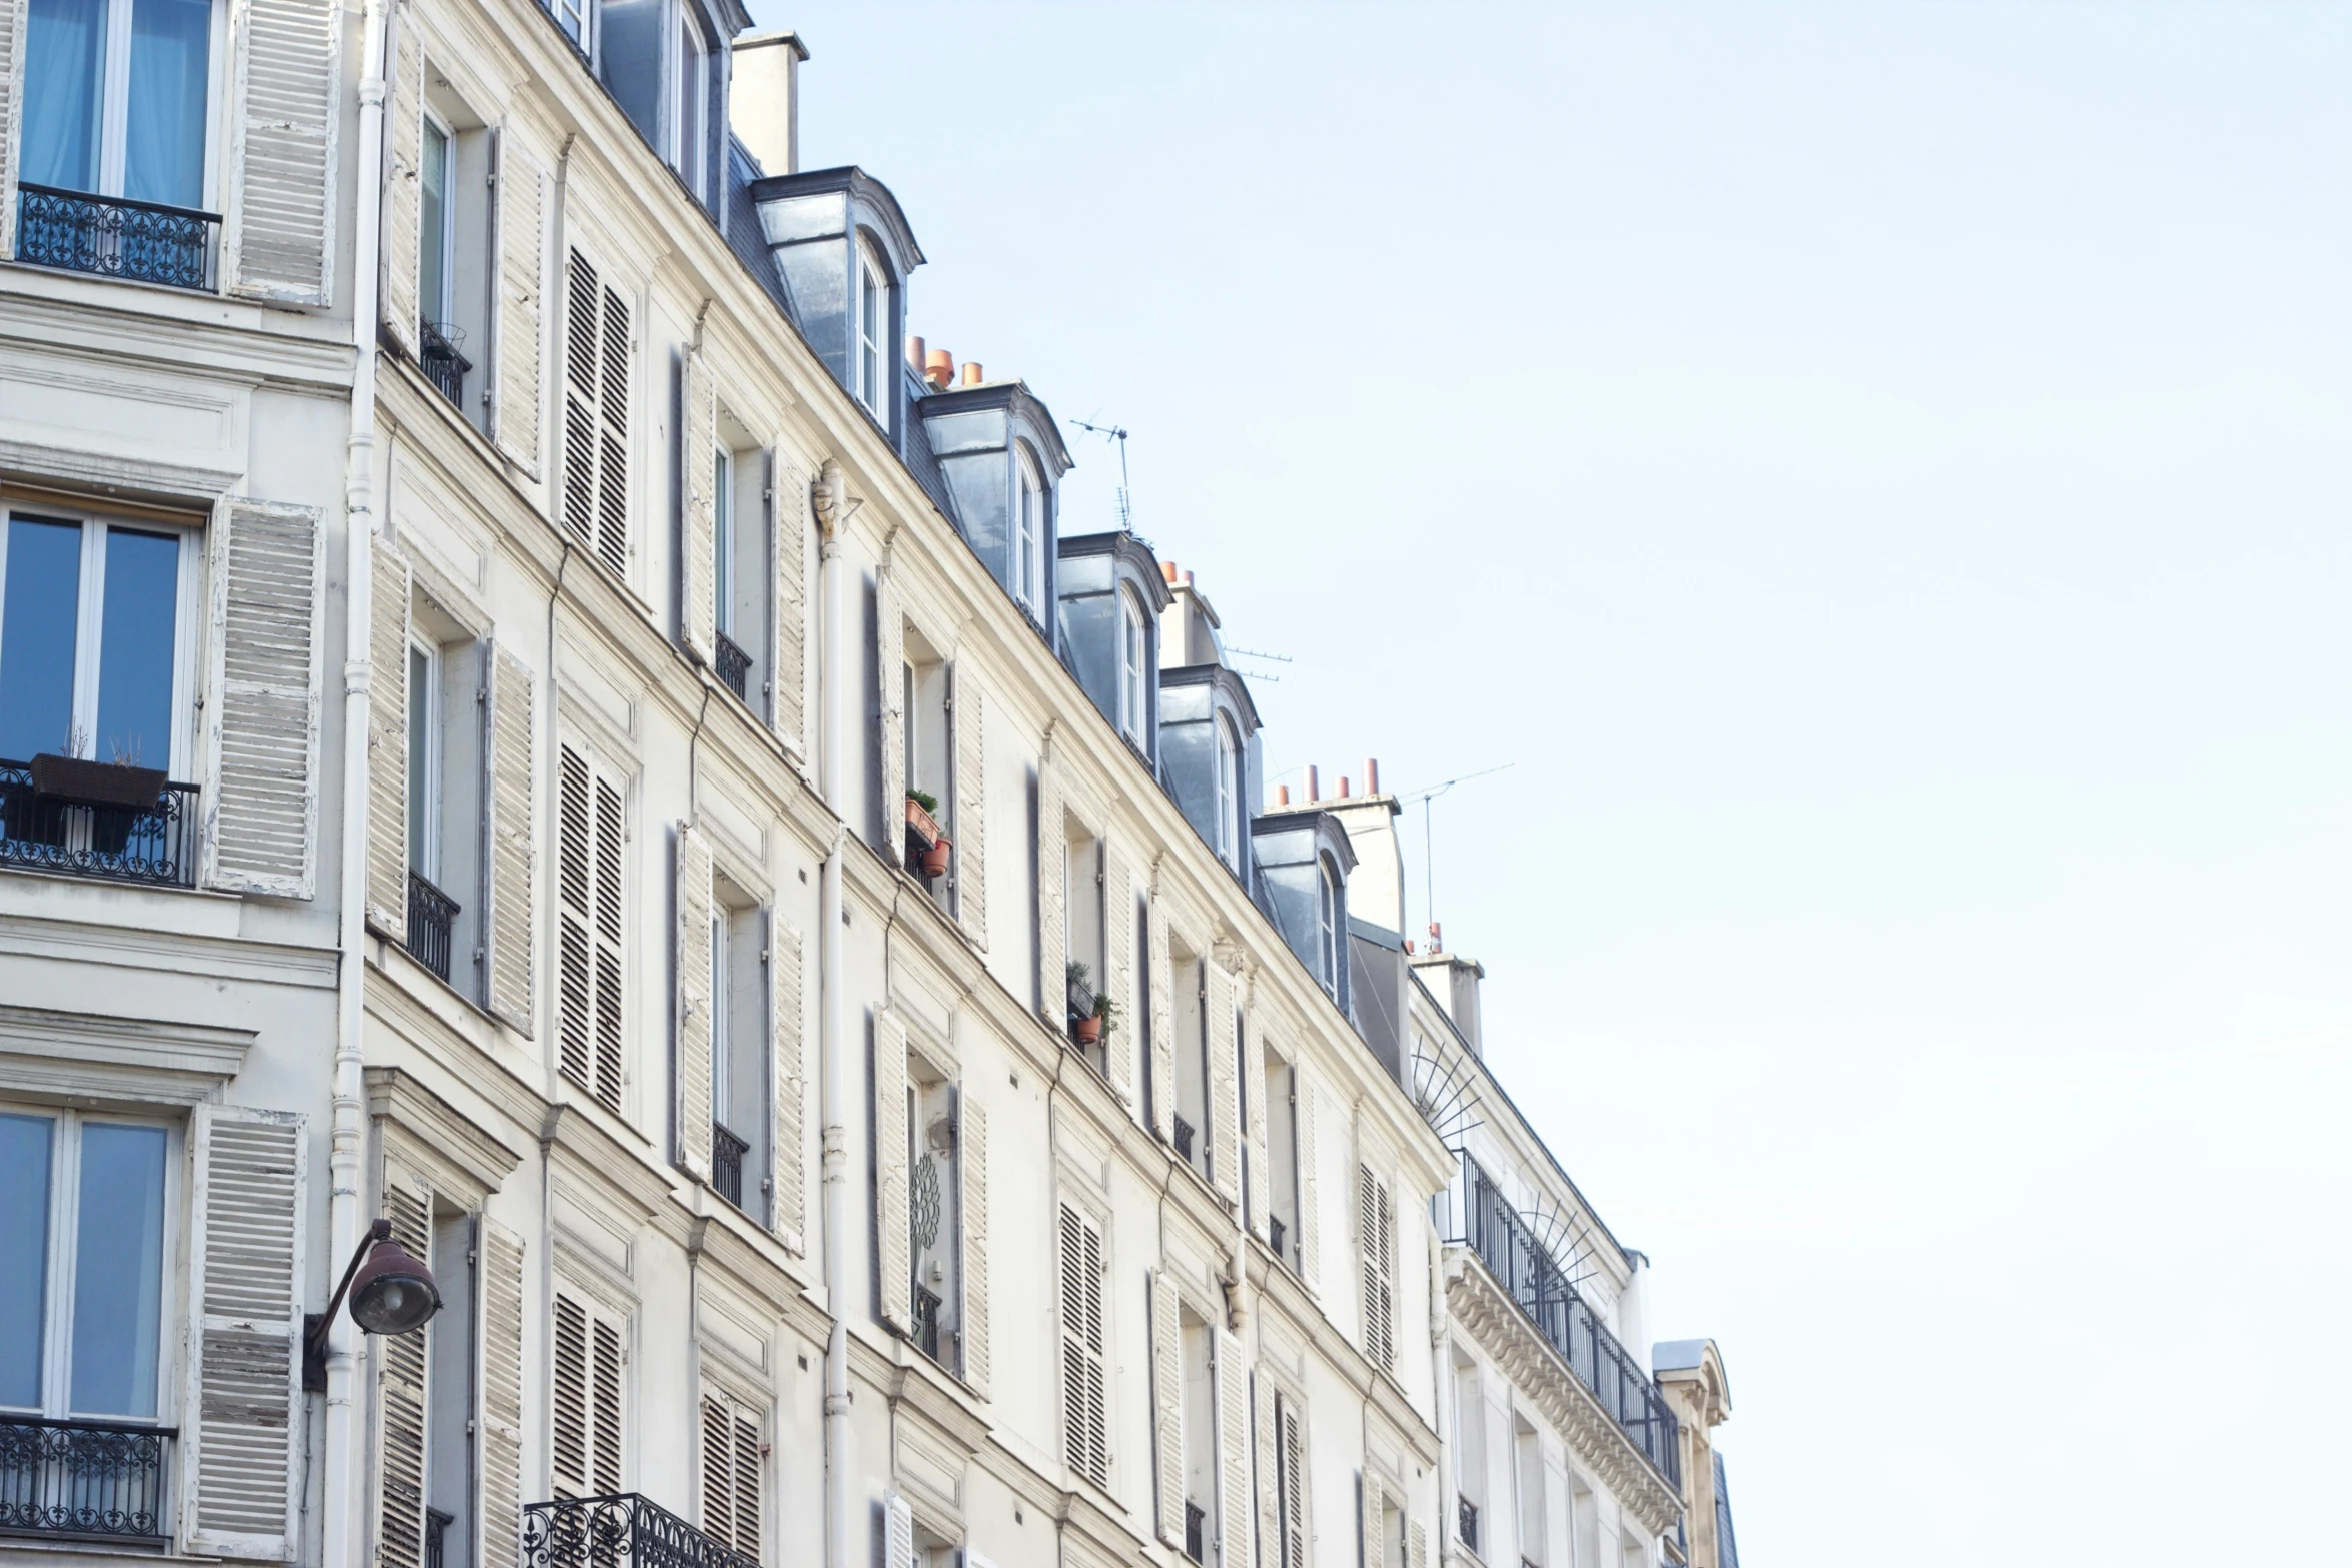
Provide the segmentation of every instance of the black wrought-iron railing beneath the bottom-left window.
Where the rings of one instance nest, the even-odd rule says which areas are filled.
[[[174,1436],[174,1427],[0,1420],[0,1530],[165,1540],[165,1448]]]

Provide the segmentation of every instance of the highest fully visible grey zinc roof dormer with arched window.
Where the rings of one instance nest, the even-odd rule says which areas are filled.
[[[903,447],[906,280],[922,247],[898,197],[866,169],[811,169],[753,181],[750,200],[809,348]]]

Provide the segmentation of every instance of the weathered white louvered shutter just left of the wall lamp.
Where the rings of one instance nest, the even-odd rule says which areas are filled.
[[[183,1552],[292,1561],[301,1549],[308,1159],[294,1112],[195,1107]]]

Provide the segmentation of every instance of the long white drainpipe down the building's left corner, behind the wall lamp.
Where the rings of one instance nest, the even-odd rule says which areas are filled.
[[[369,545],[376,531],[376,280],[383,247],[383,0],[367,0],[360,31],[360,212],[350,256],[350,440],[343,456],[343,844],[341,959],[336,966],[334,1133],[327,1152],[327,1258],[360,1244],[360,1044],[367,1025],[367,724],[374,616]],[[369,195],[374,193],[374,195]],[[348,1312],[327,1324],[325,1563],[360,1561],[360,1366]]]

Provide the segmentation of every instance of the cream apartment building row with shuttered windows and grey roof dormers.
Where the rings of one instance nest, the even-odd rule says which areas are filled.
[[[1258,806],[804,59],[0,5],[0,1554],[1679,1561],[1392,802]]]

